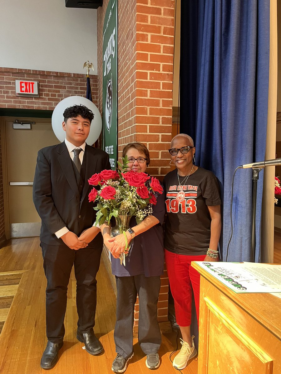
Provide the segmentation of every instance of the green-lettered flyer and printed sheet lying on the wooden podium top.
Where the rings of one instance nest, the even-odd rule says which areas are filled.
[[[194,261],[236,293],[281,292],[281,266]],[[281,294],[276,294],[280,297]]]

